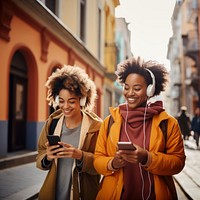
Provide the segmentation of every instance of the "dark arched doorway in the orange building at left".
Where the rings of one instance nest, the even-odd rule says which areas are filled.
[[[26,147],[27,85],[26,60],[17,51],[10,67],[8,152]]]

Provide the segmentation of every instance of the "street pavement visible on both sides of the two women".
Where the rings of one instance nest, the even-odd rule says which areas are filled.
[[[183,171],[174,178],[188,199],[199,200],[200,150],[196,150],[193,140],[185,141],[185,147],[186,165]],[[46,171],[36,168],[35,162],[0,170],[0,199],[36,199],[46,174]]]

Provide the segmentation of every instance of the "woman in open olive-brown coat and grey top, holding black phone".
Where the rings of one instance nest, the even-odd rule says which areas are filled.
[[[100,175],[93,166],[93,153],[102,121],[92,112],[95,84],[81,68],[64,66],[49,77],[46,86],[49,104],[60,109],[49,116],[38,142],[37,167],[49,170],[39,199],[94,200]],[[47,135],[55,119],[54,135],[62,142],[50,146]]]

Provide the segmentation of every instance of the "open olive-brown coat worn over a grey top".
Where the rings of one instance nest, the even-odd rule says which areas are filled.
[[[101,125],[101,119],[94,113],[83,113],[83,121],[80,132],[79,147],[83,151],[84,162],[82,166],[82,171],[78,173],[76,167],[73,169],[73,184],[72,192],[73,199],[80,199],[78,192],[78,176],[80,178],[81,186],[81,199],[95,199],[99,188],[99,178],[100,175],[96,172],[93,166],[93,152],[95,149],[95,144],[97,136],[99,133],[99,128]],[[61,118],[63,116],[60,110],[54,112],[46,121],[39,138],[38,142],[38,155],[36,158],[36,165],[39,169],[45,170],[42,167],[42,159],[46,155],[45,143],[47,141],[47,135],[49,126],[52,119]],[[56,127],[57,128],[57,127]],[[75,166],[75,165],[74,165]],[[55,199],[55,188],[56,188],[56,160],[53,161],[49,172],[46,176],[44,184],[39,193],[39,199],[41,200],[54,200]]]

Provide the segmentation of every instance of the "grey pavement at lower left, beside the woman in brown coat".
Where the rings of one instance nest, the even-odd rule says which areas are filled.
[[[46,173],[37,169],[35,162],[0,170],[0,199],[33,199],[41,188]]]

